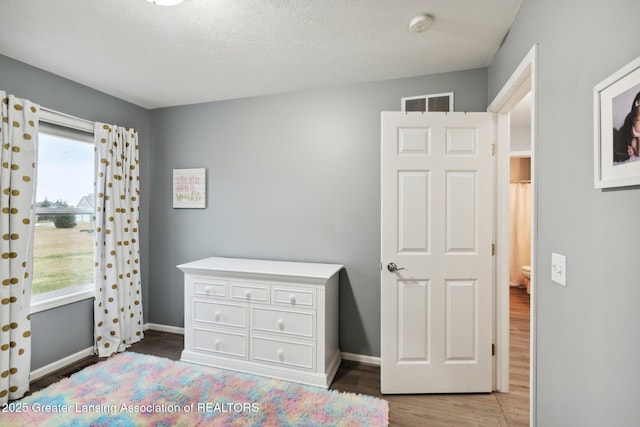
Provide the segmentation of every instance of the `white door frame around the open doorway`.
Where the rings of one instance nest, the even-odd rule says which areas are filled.
[[[534,44],[487,111],[498,122],[495,198],[495,390],[509,391],[509,122],[510,112],[531,92],[531,305],[529,342],[529,424],[536,425],[537,129],[538,45]]]

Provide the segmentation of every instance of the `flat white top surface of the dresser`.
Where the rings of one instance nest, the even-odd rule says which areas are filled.
[[[251,273],[289,277],[329,279],[340,271],[340,264],[310,262],[266,261],[257,259],[211,257],[178,265],[185,273],[220,271],[228,273]]]

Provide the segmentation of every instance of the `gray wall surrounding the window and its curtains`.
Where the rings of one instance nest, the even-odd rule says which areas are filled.
[[[96,90],[0,55],[0,89],[62,113],[139,131],[140,241],[143,310],[149,310],[149,112]],[[93,346],[93,303],[78,303],[32,315],[32,366],[37,369]],[[147,316],[145,315],[145,319]],[[64,334],[61,334],[64,331]],[[65,335],[64,338],[60,338]]]

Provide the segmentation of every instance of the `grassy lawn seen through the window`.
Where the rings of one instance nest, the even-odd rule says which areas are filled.
[[[92,223],[74,228],[38,223],[35,228],[33,294],[94,282],[93,232],[81,231],[93,230]]]

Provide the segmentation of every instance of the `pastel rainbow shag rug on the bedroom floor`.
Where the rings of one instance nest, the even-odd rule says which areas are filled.
[[[12,402],[10,426],[383,426],[371,396],[120,353]]]

